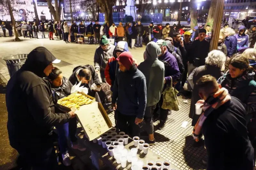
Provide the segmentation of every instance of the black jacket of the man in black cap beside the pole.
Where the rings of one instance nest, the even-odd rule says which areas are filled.
[[[210,44],[208,41],[195,40],[192,43],[191,49],[188,56],[189,63],[193,63],[194,66],[199,67],[205,64],[205,58],[207,57],[210,49]]]

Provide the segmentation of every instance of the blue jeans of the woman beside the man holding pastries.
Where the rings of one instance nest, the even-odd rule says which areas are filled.
[[[76,128],[76,118],[70,119],[68,123],[56,127],[61,154],[66,154],[68,152],[68,137],[70,137],[72,144],[76,143]]]

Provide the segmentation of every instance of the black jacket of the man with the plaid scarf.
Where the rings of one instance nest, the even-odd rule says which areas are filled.
[[[207,170],[253,169],[254,151],[245,115],[241,101],[231,97],[231,101],[207,116],[202,126],[208,154]]]

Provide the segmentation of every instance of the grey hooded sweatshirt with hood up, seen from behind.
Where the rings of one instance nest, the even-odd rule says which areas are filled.
[[[147,107],[159,102],[164,88],[164,63],[158,60],[159,54],[159,46],[153,41],[149,42],[144,52],[144,61],[138,66],[146,77]]]

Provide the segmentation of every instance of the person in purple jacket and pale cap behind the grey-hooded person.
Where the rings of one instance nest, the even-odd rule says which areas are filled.
[[[175,86],[178,82],[177,79],[180,78],[180,70],[177,63],[176,58],[167,50],[167,44],[164,40],[158,40],[156,41],[157,45],[161,48],[161,54],[158,55],[158,60],[162,61],[164,63],[164,89],[167,87],[167,85],[171,85],[171,81],[173,83],[173,86]],[[163,90],[164,90],[163,89]],[[169,109],[162,109],[163,104],[163,94],[161,94],[161,98],[159,101],[159,107],[160,107],[160,122],[158,124],[158,128],[164,129],[165,122],[167,120],[167,115],[169,112]],[[157,109],[156,109],[157,111]],[[154,113],[156,113],[154,111]],[[155,117],[155,116],[154,116]]]

